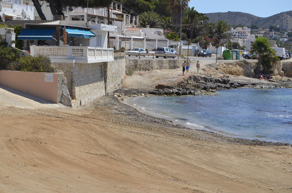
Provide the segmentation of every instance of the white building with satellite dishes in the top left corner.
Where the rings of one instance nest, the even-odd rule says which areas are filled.
[[[34,7],[25,0],[0,0],[0,21],[33,20]]]

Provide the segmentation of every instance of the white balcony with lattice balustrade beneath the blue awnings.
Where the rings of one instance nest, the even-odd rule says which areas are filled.
[[[89,46],[30,46],[31,55],[48,56],[51,62],[95,63],[114,61],[113,48]]]

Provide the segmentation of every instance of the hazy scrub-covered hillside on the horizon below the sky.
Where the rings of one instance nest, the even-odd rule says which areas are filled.
[[[230,12],[228,13],[230,25],[242,24],[246,26],[251,26],[252,24],[256,24],[259,28],[269,28],[270,25],[280,25],[281,18],[284,15],[292,16],[292,11],[286,11],[282,13],[278,13],[272,15],[270,17],[257,17],[255,15],[251,15],[249,13],[242,12]],[[219,20],[227,21],[227,13],[206,13],[206,16],[209,17],[209,21],[217,22]]]

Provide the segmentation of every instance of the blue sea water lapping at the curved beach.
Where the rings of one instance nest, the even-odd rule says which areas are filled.
[[[193,129],[292,143],[292,89],[239,88],[215,96],[130,97],[130,106]]]

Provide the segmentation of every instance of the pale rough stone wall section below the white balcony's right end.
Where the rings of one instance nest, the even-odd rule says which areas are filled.
[[[126,75],[125,57],[115,57],[112,62],[104,62],[104,81],[106,94],[112,94],[121,87]]]

